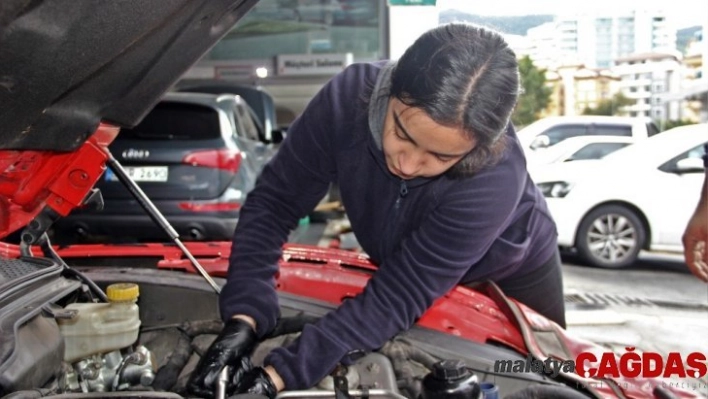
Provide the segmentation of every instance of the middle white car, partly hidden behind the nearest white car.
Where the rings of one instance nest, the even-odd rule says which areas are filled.
[[[577,136],[560,141],[550,147],[527,153],[529,168],[555,162],[600,159],[624,148],[638,139],[625,136]]]

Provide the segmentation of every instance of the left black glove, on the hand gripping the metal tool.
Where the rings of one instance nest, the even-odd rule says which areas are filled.
[[[197,396],[214,397],[221,370],[229,367],[229,382],[238,382],[251,370],[251,354],[256,344],[256,332],[248,322],[230,319],[224,329],[199,360],[187,383],[187,390]],[[229,384],[229,388],[233,387]],[[227,389],[228,390],[228,389]]]

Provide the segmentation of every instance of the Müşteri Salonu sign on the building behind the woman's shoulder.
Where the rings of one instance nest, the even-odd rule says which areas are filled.
[[[277,57],[279,76],[334,75],[354,62],[346,54],[281,54]]]

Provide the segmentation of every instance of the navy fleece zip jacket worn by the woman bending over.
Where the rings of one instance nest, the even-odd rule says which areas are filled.
[[[401,181],[387,170],[372,134],[381,127],[368,119],[384,65],[352,65],[315,96],[248,195],[234,234],[221,314],[252,316],[260,336],[278,317],[281,246],[330,182],[379,265],[361,295],[266,358],[287,389],[314,385],[351,350],[381,347],[459,282],[528,273],[556,248],[555,225],[511,128],[501,161],[473,177]]]

